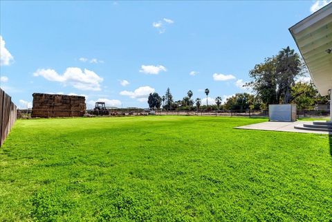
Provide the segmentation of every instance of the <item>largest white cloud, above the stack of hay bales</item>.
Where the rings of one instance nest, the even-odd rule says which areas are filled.
[[[38,69],[33,75],[36,77],[42,76],[52,82],[61,82],[64,86],[71,85],[76,89],[91,91],[100,91],[100,83],[103,81],[103,78],[95,72],[86,68],[82,71],[82,69],[76,67],[66,68],[62,75],[50,68]]]

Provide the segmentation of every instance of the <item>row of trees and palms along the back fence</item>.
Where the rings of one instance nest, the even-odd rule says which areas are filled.
[[[297,82],[296,80],[307,75],[308,70],[301,59],[291,48],[286,47],[273,57],[267,57],[264,62],[255,65],[249,71],[252,79],[244,86],[252,89],[255,94],[237,93],[228,98],[221,105],[221,97],[215,98],[215,104],[209,106],[209,89],[205,89],[206,106],[200,98],[192,100],[192,91],[187,92],[182,100],[173,100],[169,88],[163,97],[158,93],[150,93],[148,104],[151,109],[267,109],[268,104],[297,104],[297,109],[312,109],[315,104],[326,104],[327,97],[322,97],[311,82]]]

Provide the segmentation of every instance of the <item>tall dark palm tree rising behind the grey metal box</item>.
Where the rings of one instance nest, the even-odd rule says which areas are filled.
[[[292,100],[291,88],[295,85],[295,77],[301,74],[302,64],[299,55],[289,46],[280,50],[276,59],[278,86],[284,95],[284,103],[287,104]]]

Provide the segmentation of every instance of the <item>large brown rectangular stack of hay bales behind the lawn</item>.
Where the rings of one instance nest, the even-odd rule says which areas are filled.
[[[32,117],[83,116],[85,112],[84,96],[33,93]]]

